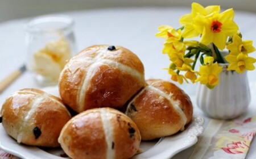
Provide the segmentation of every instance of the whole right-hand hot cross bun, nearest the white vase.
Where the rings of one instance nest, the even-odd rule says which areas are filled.
[[[171,82],[147,80],[128,104],[126,114],[137,124],[142,140],[156,139],[183,131],[191,122],[193,106],[183,90]]]

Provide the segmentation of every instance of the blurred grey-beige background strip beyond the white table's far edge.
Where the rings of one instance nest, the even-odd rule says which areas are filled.
[[[256,0],[0,0],[0,22],[53,12],[104,7],[189,7],[192,2],[199,2],[204,6],[221,5],[223,9],[233,7],[236,10],[256,12]]]

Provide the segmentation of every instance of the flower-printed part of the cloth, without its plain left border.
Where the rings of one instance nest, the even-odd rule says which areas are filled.
[[[222,122],[202,158],[243,159],[256,132],[256,116]]]

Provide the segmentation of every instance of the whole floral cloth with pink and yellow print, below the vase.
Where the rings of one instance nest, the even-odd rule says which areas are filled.
[[[245,158],[255,132],[256,116],[230,121],[212,119],[189,159]]]

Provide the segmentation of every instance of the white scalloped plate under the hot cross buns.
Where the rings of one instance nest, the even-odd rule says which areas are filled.
[[[44,89],[44,91],[53,95],[58,95],[56,87]],[[143,153],[137,154],[133,158],[171,158],[176,153],[191,147],[197,142],[197,137],[203,133],[203,124],[204,119],[202,117],[194,116],[191,124],[189,124],[183,132],[176,133],[176,135],[172,136],[162,137],[159,140],[143,141],[140,146]],[[63,159],[63,157],[60,157],[60,154],[64,154],[61,148],[40,149],[38,147],[18,144],[13,138],[7,135],[2,124],[0,124],[0,136],[0,148],[15,156],[26,159]]]

